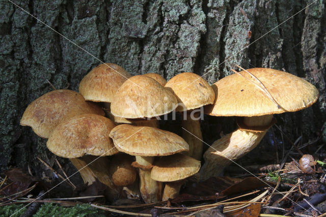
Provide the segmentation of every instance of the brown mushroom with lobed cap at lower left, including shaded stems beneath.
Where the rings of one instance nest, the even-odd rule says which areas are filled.
[[[109,137],[114,127],[114,123],[103,116],[79,115],[58,125],[46,143],[52,153],[70,158],[85,183],[92,184],[97,178],[105,184],[110,200],[117,199],[122,191],[113,184],[108,170],[110,161],[105,157],[118,153]],[[86,166],[90,170],[84,170]]]

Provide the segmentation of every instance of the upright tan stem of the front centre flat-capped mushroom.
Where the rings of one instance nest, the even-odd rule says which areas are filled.
[[[151,179],[154,157],[136,156],[139,164],[139,189],[145,203],[157,203],[162,196],[162,182]]]

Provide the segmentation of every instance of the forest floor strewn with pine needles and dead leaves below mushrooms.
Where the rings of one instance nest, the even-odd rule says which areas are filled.
[[[155,204],[144,204],[138,195],[109,203],[102,183],[73,183],[76,180],[67,179],[64,170],[52,169],[39,159],[57,179],[35,177],[19,168],[1,174],[0,215],[324,216],[326,152],[322,137],[320,133],[309,144],[300,144],[300,138],[289,141],[292,146],[283,151],[278,164],[253,165],[244,158],[240,161],[243,168],[231,165],[224,176],[199,181],[195,174],[183,184],[177,198]],[[317,144],[315,152],[303,153],[312,144]]]

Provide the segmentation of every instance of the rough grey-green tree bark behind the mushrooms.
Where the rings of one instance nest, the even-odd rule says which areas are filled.
[[[189,71],[210,83],[230,74],[236,64],[304,77],[318,88],[318,102],[303,112],[281,115],[279,124],[294,138],[303,133],[308,140],[326,118],[326,1],[318,0],[268,31],[312,2],[14,1],[68,41],[0,0],[0,167],[37,168],[36,156],[53,165],[55,156],[46,150],[46,140],[19,125],[22,113],[51,91],[47,80],[57,89],[69,85],[77,91],[99,60],[116,63],[132,75],[155,72],[169,79]],[[219,134],[213,127],[206,129]]]

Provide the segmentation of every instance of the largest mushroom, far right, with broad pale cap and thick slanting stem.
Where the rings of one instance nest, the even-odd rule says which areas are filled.
[[[215,141],[204,153],[205,164],[201,179],[219,175],[231,163],[254,149],[276,120],[273,114],[295,112],[311,106],[318,98],[318,90],[306,80],[292,74],[267,68],[248,69],[264,85],[274,101],[256,85],[249,82],[252,75],[226,76],[212,85],[213,105],[205,108],[212,116],[238,116],[239,129]],[[244,77],[243,77],[244,76]]]

